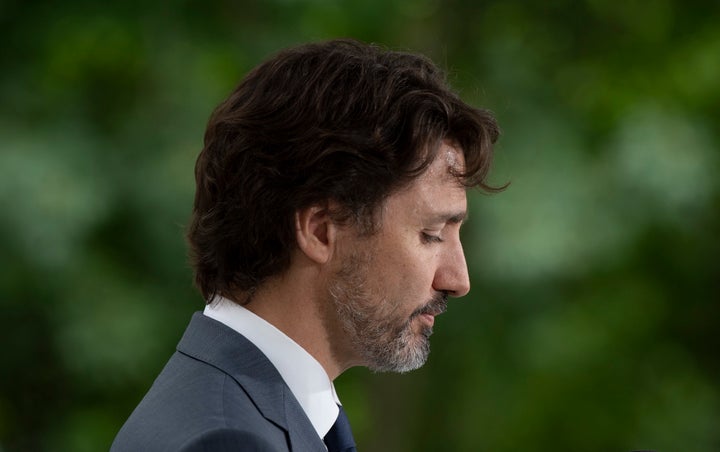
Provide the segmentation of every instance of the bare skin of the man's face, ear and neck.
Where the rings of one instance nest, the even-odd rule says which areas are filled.
[[[470,289],[460,242],[467,198],[450,173],[462,165],[462,153],[443,143],[420,177],[388,197],[370,237],[334,223],[332,206],[298,212],[290,269],[246,307],[305,348],[330,379],[353,366],[421,366],[446,296]]]

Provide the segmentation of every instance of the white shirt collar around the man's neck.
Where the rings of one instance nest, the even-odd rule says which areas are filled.
[[[242,334],[263,352],[324,438],[335,423],[340,400],[322,365],[285,333],[226,298],[216,297],[203,314]]]

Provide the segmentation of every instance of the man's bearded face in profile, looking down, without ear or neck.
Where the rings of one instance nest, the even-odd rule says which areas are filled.
[[[470,289],[459,235],[465,188],[450,174],[462,165],[462,153],[443,144],[422,176],[387,199],[376,234],[341,231],[345,245],[329,294],[349,365],[394,372],[422,366],[447,296]]]

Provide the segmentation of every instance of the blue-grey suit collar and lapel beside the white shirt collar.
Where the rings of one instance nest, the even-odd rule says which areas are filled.
[[[197,312],[177,350],[217,367],[235,379],[260,413],[288,432],[291,450],[326,450],[277,369],[243,335]]]

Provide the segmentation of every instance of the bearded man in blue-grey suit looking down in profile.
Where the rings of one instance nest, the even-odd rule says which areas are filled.
[[[497,136],[417,55],[330,41],[252,70],[195,169],[206,308],[112,450],[355,450],[332,381],[423,365]]]

